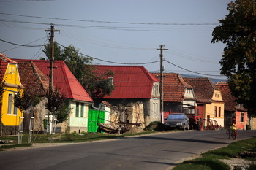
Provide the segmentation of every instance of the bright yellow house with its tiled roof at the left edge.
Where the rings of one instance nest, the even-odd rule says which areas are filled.
[[[14,97],[18,91],[18,85],[21,88],[23,85],[20,83],[17,62],[2,53],[0,53],[0,82],[1,123],[4,125],[4,131],[14,131],[20,125],[20,117],[23,117],[20,109],[14,106]]]

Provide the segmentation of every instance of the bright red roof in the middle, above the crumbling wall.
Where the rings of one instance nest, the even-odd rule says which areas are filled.
[[[97,65],[97,74],[105,70],[114,73],[115,89],[104,98],[151,98],[153,83],[158,80],[143,66],[103,66]]]

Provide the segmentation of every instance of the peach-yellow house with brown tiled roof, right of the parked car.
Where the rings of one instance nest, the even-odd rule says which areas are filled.
[[[192,86],[197,98],[197,115],[203,121],[203,127],[209,125],[224,126],[224,104],[222,93],[208,78],[183,77]]]

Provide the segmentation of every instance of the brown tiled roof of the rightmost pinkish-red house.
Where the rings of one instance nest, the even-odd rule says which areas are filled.
[[[236,98],[232,95],[227,82],[217,82],[216,86],[222,92],[222,98],[225,101],[225,110],[235,111],[237,109],[240,111],[246,111],[246,109],[244,109],[244,108],[236,107],[236,105],[237,105]]]

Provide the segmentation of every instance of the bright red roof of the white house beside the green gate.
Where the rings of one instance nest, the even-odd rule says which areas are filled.
[[[49,61],[42,60],[23,60],[31,61],[34,63],[40,71],[47,75],[49,74]],[[89,94],[84,90],[80,82],[75,78],[75,76],[70,72],[64,61],[54,61],[53,66],[53,85],[59,88],[61,93],[63,93],[66,98],[72,98],[77,101],[88,101],[93,102]]]

